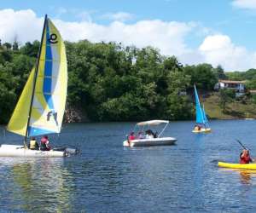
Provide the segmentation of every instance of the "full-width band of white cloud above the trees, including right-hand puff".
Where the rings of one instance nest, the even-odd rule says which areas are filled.
[[[3,42],[26,43],[40,39],[44,17],[38,18],[31,10],[0,10],[0,39]],[[176,55],[183,64],[219,64],[225,70],[247,70],[256,66],[256,52],[232,43],[231,38],[195,22],[140,20],[134,24],[113,21],[108,26],[91,20],[63,21],[53,19],[65,40],[76,42],[88,39],[91,42],[121,42],[138,48],[153,46],[163,55]],[[207,30],[206,30],[207,29]],[[190,35],[204,37],[199,47],[187,43]],[[209,35],[211,34],[211,35]],[[191,38],[191,37],[190,37]]]

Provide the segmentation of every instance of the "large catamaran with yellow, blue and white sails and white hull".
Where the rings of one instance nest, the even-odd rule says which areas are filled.
[[[61,151],[31,150],[29,137],[60,133],[67,98],[67,58],[60,32],[45,15],[36,66],[20,95],[7,130],[24,136],[24,145],[3,144],[0,156],[62,157]]]

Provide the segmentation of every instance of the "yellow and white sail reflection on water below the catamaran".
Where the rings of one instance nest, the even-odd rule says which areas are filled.
[[[12,179],[11,210],[72,211],[73,178],[63,167],[63,158],[1,158],[0,170],[9,170]]]

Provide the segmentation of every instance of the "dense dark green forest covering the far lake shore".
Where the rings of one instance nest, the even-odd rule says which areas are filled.
[[[18,101],[40,43],[0,42],[0,123],[6,124]],[[228,73],[209,64],[183,66],[158,49],[121,43],[66,42],[67,107],[90,121],[135,121],[151,118],[191,119],[193,85],[211,91],[218,78],[244,78],[256,83],[256,70]],[[254,78],[255,76],[255,78]]]

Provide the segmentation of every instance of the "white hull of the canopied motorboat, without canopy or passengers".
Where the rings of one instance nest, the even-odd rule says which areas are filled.
[[[168,146],[173,145],[177,141],[174,137],[137,139],[132,141],[124,141],[124,147],[152,147],[152,146]]]

